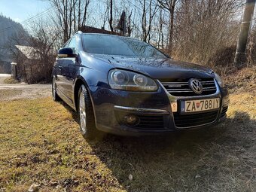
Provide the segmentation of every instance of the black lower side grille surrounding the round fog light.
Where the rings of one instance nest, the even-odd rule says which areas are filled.
[[[130,126],[133,129],[137,130],[166,130],[166,127],[164,126],[164,117],[167,118],[168,115],[145,115],[145,114],[133,114],[139,117],[140,121],[137,125],[129,125],[125,122],[124,117],[126,115],[129,115],[128,113],[118,111],[116,113],[117,120],[120,124],[123,124],[124,126]]]

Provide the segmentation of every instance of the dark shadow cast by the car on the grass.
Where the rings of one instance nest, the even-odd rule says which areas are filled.
[[[79,123],[78,114],[64,106]],[[253,145],[248,136],[255,124],[247,113],[236,111],[233,118],[206,129],[166,136],[106,135],[87,142],[128,191],[245,191],[248,178],[230,175],[248,171],[236,155]]]

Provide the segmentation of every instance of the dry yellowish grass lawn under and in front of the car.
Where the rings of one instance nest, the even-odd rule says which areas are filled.
[[[230,99],[211,129],[94,142],[62,103],[0,101],[0,191],[256,191],[256,97]]]

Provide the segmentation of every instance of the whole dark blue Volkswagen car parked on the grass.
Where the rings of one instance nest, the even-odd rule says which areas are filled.
[[[175,61],[150,44],[77,32],[53,66],[53,100],[75,111],[85,138],[170,133],[226,118],[227,89],[212,69]]]

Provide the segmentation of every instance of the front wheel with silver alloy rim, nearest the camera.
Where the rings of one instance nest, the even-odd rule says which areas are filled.
[[[84,85],[81,85],[78,91],[78,113],[82,136],[85,139],[96,139],[99,136],[99,130],[96,129],[93,105]]]

